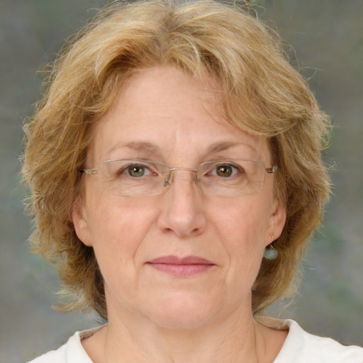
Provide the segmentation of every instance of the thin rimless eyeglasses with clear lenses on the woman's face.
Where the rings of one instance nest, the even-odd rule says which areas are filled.
[[[172,172],[177,170],[193,172],[193,181],[204,194],[233,197],[261,191],[266,173],[274,173],[277,166],[230,159],[203,162],[197,169],[190,169],[151,160],[122,159],[102,162],[98,169],[79,169],[86,175],[97,175],[106,193],[129,197],[162,194],[172,184]]]

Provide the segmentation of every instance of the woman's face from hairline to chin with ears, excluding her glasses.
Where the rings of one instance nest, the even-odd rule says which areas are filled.
[[[225,121],[218,89],[173,67],[134,74],[99,121],[86,167],[113,159],[193,169],[248,159],[270,167],[267,141]],[[73,220],[94,248],[110,320],[196,328],[250,313],[264,248],[285,221],[273,174],[259,193],[235,197],[203,194],[188,170],[174,171],[164,193],[138,198],[107,194],[98,179],[84,177]]]

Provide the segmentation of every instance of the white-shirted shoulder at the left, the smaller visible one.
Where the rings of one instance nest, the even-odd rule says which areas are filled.
[[[84,330],[83,332],[76,332],[69,340],[57,350],[51,350],[48,353],[33,359],[28,363],[92,363],[88,354],[82,345],[82,339],[94,335],[100,328]]]

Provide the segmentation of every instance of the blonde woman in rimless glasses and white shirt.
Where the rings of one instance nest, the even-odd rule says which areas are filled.
[[[362,362],[258,313],[296,285],[329,194],[328,117],[244,9],[101,12],[26,128],[35,252],[108,323],[40,362]]]

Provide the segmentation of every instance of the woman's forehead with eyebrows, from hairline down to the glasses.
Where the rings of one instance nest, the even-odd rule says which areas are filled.
[[[211,78],[196,79],[174,67],[142,69],[128,79],[99,120],[91,159],[142,156],[185,163],[228,151],[266,159],[266,140],[228,123],[220,95]]]

